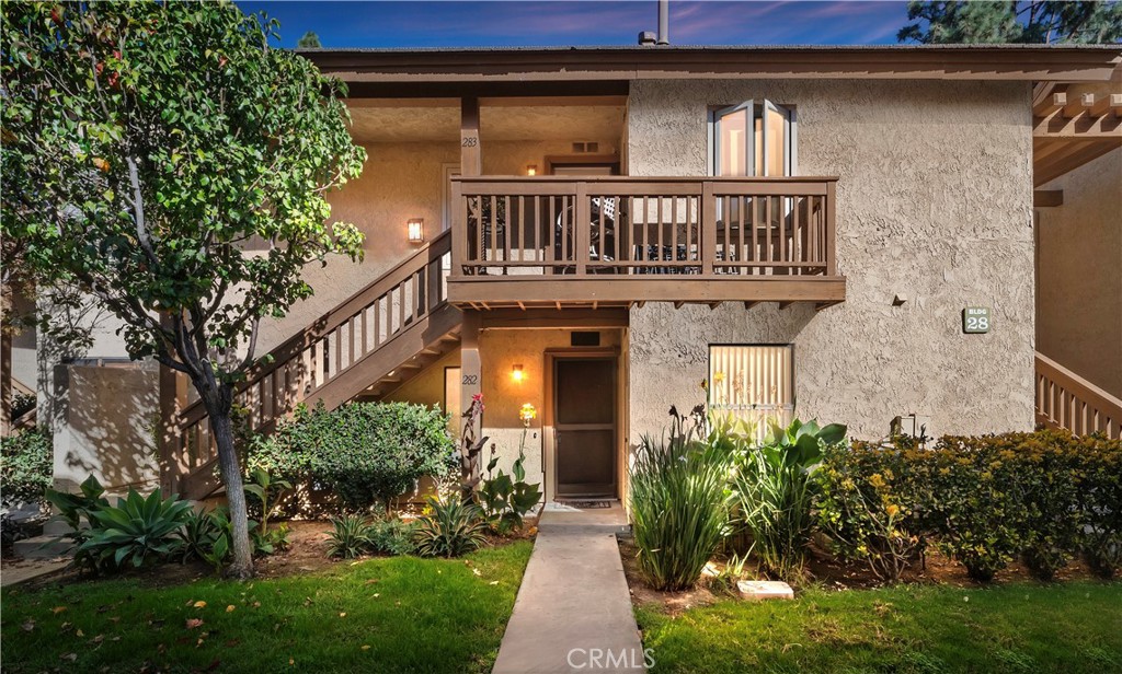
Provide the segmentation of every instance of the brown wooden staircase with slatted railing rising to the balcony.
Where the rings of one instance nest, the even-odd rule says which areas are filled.
[[[450,251],[444,232],[261,358],[234,397],[249,428],[272,432],[300,403],[380,397],[453,350],[462,315],[447,301]],[[186,406],[176,428],[172,488],[205,498],[220,483],[202,403]]]

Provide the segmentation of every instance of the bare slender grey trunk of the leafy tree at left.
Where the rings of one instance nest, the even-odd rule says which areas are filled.
[[[210,415],[214,443],[218,446],[219,472],[226,487],[226,500],[230,507],[230,524],[233,527],[233,561],[226,570],[228,578],[245,580],[254,575],[254,551],[249,544],[249,512],[246,509],[246,490],[241,483],[241,467],[233,447],[233,420],[230,415],[233,392],[229,385],[220,385],[220,391],[203,397]]]

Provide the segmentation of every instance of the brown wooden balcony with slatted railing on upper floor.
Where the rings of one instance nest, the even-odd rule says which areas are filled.
[[[837,303],[836,182],[457,178],[448,299],[476,309]]]

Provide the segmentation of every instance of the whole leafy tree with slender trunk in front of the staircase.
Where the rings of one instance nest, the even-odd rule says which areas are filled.
[[[132,358],[187,376],[252,573],[231,405],[261,320],[312,294],[304,266],[357,259],[327,224],[359,175],[344,88],[277,24],[231,2],[4,2],[2,238],[42,287],[77,287]]]

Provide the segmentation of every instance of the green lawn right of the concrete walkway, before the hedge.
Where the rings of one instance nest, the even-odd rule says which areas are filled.
[[[636,617],[655,673],[1122,672],[1122,583],[810,590]]]

